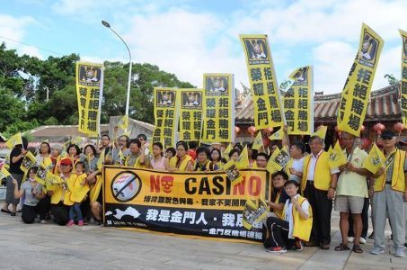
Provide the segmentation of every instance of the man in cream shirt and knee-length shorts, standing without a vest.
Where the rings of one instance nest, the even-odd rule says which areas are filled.
[[[342,141],[345,145],[343,150],[348,163],[340,166],[341,175],[338,179],[335,210],[340,211],[340,229],[342,242],[336,251],[349,250],[348,247],[348,232],[349,232],[349,212],[355,228],[355,238],[352,251],[362,253],[363,250],[359,246],[362,233],[362,218],[361,212],[367,194],[367,179],[369,172],[363,168],[363,162],[367,158],[367,153],[355,146],[355,136],[348,132],[342,133]],[[366,242],[365,242],[366,243]]]

